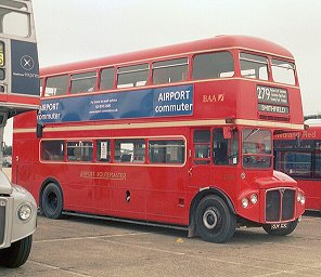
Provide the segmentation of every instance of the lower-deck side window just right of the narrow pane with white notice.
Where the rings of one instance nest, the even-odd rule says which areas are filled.
[[[145,141],[140,138],[115,140],[115,162],[145,161]]]

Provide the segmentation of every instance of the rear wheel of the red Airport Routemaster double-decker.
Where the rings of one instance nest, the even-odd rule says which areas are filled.
[[[63,212],[63,193],[55,183],[49,183],[42,193],[41,208],[43,214],[52,220],[62,217]]]

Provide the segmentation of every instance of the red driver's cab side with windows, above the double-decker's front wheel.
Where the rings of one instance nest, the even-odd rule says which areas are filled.
[[[235,184],[239,163],[239,132],[229,127],[194,129],[190,155],[190,186],[228,189]],[[231,183],[231,186],[229,185]]]

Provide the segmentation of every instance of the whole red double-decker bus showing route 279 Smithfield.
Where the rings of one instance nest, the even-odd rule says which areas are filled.
[[[12,176],[46,216],[162,224],[214,242],[241,225],[295,229],[305,196],[272,161],[273,134],[304,129],[286,49],[219,36],[40,77],[39,114],[14,120]]]

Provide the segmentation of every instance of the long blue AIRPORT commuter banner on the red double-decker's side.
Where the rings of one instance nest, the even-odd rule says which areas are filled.
[[[193,85],[112,92],[41,101],[41,123],[190,116]]]

